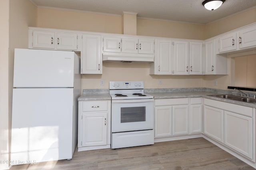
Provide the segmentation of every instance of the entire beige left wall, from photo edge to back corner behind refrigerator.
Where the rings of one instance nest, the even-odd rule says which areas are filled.
[[[36,26],[36,10],[30,0],[0,1],[0,160],[10,158],[14,48],[28,48],[28,26]]]

